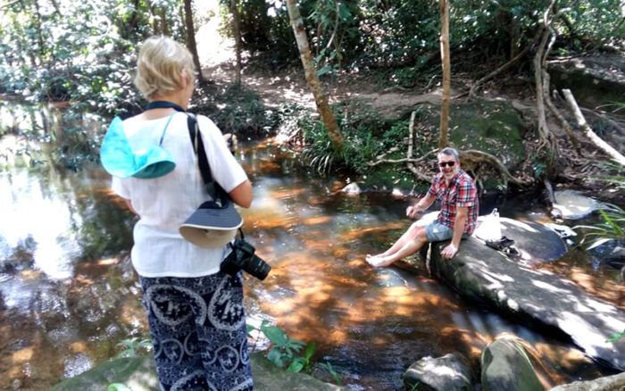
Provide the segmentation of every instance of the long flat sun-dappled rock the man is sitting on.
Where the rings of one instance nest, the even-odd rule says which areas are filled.
[[[430,270],[437,278],[470,299],[560,329],[589,357],[625,370],[625,339],[606,342],[625,329],[625,312],[554,273],[512,261],[473,237],[462,241],[453,259],[443,260],[440,250],[448,243],[432,245]]]

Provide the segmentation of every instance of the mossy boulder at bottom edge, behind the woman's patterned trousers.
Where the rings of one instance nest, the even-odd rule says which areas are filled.
[[[299,391],[335,391],[341,387],[324,383],[304,373],[288,373],[267,360],[261,353],[250,354],[254,389],[257,391],[299,390]],[[63,380],[52,391],[106,391],[112,383],[121,383],[134,391],[158,389],[154,358],[137,356],[118,358],[87,370],[71,379]]]

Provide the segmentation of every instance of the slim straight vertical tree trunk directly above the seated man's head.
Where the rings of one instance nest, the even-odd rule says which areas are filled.
[[[440,56],[443,62],[443,101],[440,104],[440,138],[438,146],[442,149],[449,144],[449,85],[451,81],[451,63],[449,61],[449,3],[439,0],[440,5]]]

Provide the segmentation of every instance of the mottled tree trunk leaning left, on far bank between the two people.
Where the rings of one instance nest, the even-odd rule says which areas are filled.
[[[299,6],[296,0],[287,0],[287,10],[288,16],[291,19],[293,33],[296,36],[300,59],[304,66],[306,82],[308,82],[308,85],[312,89],[317,111],[319,115],[321,115],[321,120],[328,130],[328,136],[332,145],[338,150],[343,149],[344,137],[341,130],[338,129],[337,120],[334,118],[334,114],[329,107],[328,96],[323,91],[319,78],[317,78],[317,71],[314,68],[314,62],[312,62],[311,47],[308,45],[308,37],[306,37],[306,31],[304,30],[304,21],[302,21],[302,14],[299,12]]]

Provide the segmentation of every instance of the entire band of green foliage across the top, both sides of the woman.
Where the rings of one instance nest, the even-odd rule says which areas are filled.
[[[502,62],[518,53],[534,37],[548,4],[453,2],[454,66]],[[136,111],[140,99],[130,82],[136,46],[153,34],[184,41],[182,7],[181,0],[9,2],[0,9],[0,94],[71,100],[92,112]],[[560,0],[556,7],[566,10],[556,23],[560,53],[623,45],[620,0]],[[249,0],[239,8],[244,49],[253,59],[261,56],[272,68],[297,61],[284,2]],[[391,80],[413,84],[438,66],[437,1],[302,0],[300,8],[321,73],[377,68]]]

